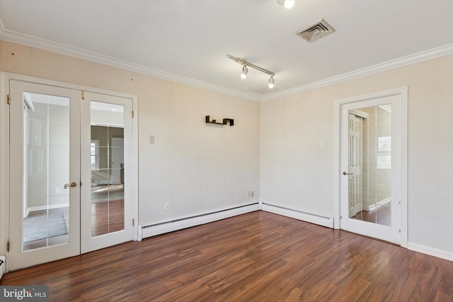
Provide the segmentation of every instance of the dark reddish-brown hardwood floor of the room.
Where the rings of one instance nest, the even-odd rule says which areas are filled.
[[[453,301],[453,262],[265,211],[4,275],[50,301]]]

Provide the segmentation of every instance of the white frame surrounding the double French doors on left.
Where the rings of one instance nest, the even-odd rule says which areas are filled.
[[[138,240],[138,96],[130,93],[120,93],[117,91],[108,91],[88,86],[80,86],[71,83],[52,81],[35,78],[33,76],[24,76],[0,71],[0,255],[7,255],[7,243],[9,233],[9,108],[8,93],[9,80],[38,83],[49,86],[76,89],[80,91],[89,91],[106,95],[119,96],[122,98],[132,99],[132,110],[134,110],[134,119],[132,121],[132,141],[133,141],[133,158],[132,158],[132,219],[134,219],[134,228],[132,240]],[[6,258],[6,269],[8,259]]]

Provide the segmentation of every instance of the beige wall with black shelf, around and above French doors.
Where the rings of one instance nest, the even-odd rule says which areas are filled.
[[[138,95],[139,223],[258,201],[259,103],[1,40],[0,70]]]

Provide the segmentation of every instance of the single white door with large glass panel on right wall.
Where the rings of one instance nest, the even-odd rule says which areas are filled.
[[[399,95],[341,105],[340,143],[340,228],[398,244],[401,108]]]

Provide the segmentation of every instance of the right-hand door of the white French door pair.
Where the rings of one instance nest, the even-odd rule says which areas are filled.
[[[83,253],[133,238],[132,100],[85,93],[82,112]]]

